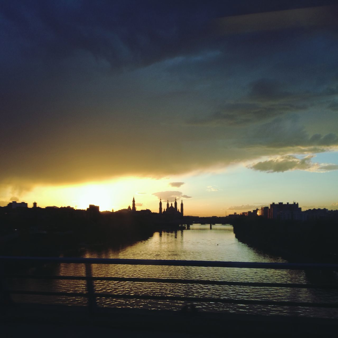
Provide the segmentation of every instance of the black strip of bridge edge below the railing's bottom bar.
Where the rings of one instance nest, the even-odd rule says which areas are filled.
[[[338,319],[16,304],[1,307],[2,337],[335,336]]]

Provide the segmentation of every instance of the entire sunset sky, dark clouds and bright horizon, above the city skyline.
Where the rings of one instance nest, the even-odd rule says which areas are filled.
[[[338,209],[334,1],[2,1],[0,206]]]

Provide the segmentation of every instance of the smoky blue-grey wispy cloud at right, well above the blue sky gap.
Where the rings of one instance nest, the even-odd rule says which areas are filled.
[[[326,87],[320,91],[290,91],[292,83],[281,83],[275,79],[260,78],[248,84],[248,93],[238,102],[228,102],[218,107],[217,111],[206,118],[189,119],[188,124],[210,124],[223,122],[227,125],[242,126],[256,124],[258,121],[267,121],[290,113],[302,113],[314,106],[322,106],[322,100],[338,94],[338,83],[334,88]],[[334,110],[331,103],[329,109]]]

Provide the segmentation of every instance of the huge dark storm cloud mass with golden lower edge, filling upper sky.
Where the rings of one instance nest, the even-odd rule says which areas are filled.
[[[301,5],[3,1],[0,183],[19,194],[336,149],[334,25],[212,27]]]

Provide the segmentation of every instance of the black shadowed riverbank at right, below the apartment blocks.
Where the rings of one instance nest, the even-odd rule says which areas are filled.
[[[232,223],[239,241],[281,256],[289,262],[338,262],[338,227],[334,221],[301,222],[243,217]]]

